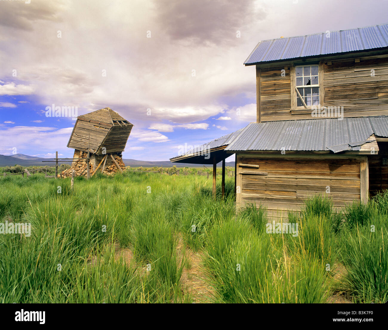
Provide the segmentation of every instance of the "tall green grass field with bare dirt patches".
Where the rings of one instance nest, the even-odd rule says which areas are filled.
[[[334,212],[320,197],[268,234],[206,176],[0,178],[0,302],[385,302],[388,193]],[[218,180],[220,181],[220,180]]]

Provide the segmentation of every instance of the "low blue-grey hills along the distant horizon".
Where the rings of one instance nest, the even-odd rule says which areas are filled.
[[[16,154],[11,156],[0,155],[0,166],[54,166],[55,162],[42,162],[42,161],[55,161],[54,158],[41,158],[23,154]],[[171,163],[170,161],[137,161],[136,159],[123,159],[126,166],[131,167],[172,167],[176,165],[177,167],[202,167],[201,164],[185,164],[185,163]],[[58,162],[58,164],[71,164],[70,162]],[[234,162],[226,162],[226,166],[234,167]],[[211,168],[211,165],[206,164],[207,168]],[[221,166],[221,163],[218,165]]]

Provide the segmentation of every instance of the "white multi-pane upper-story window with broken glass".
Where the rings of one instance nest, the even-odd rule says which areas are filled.
[[[295,66],[295,78],[296,106],[319,105],[318,65]]]

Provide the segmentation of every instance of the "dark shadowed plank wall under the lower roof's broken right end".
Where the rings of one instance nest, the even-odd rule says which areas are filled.
[[[368,156],[369,197],[388,189],[388,142],[378,142],[378,155]]]

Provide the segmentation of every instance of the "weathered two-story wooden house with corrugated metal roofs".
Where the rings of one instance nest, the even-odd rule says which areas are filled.
[[[256,122],[200,148],[236,154],[237,207],[300,210],[317,194],[340,207],[388,188],[388,24],[260,41],[244,65]]]

